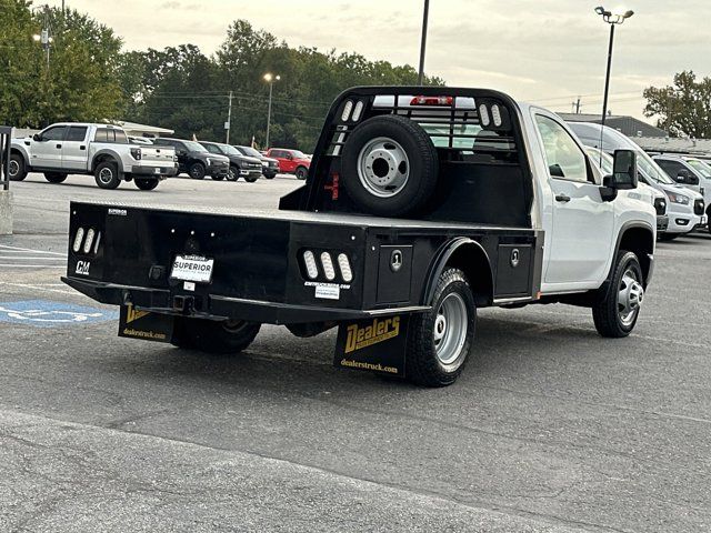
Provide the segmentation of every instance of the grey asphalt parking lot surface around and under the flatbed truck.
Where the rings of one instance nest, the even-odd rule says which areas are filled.
[[[59,282],[70,199],[264,208],[298,184],[12,184],[0,531],[711,530],[708,234],[659,245],[629,339],[577,308],[483,310],[443,390],[336,370],[333,332],[264,326],[237,358],[119,339]]]

